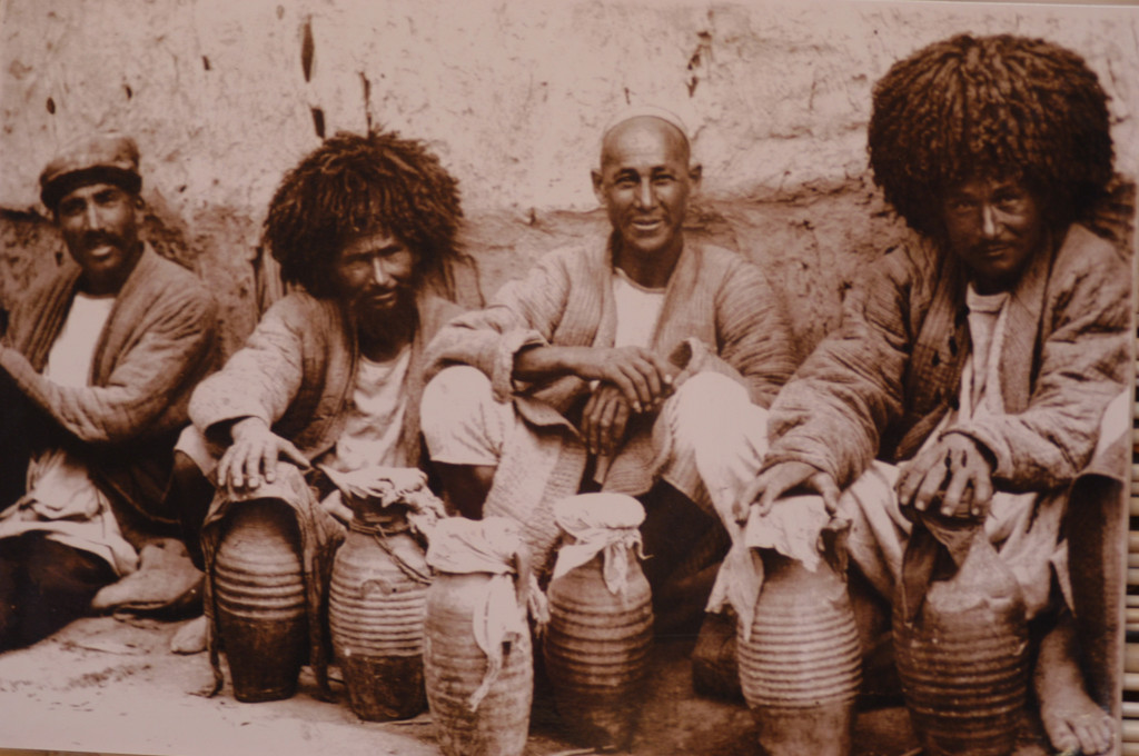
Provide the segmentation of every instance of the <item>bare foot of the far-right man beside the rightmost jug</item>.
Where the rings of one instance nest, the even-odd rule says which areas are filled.
[[[1084,691],[1075,659],[1075,628],[1065,611],[1040,643],[1033,675],[1040,720],[1056,750],[1103,754],[1115,742],[1115,721]]]

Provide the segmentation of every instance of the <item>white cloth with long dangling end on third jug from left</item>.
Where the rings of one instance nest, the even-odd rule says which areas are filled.
[[[539,630],[548,622],[546,597],[530,569],[517,524],[505,517],[440,520],[427,547],[427,564],[439,573],[490,575],[472,617],[475,643],[486,655],[486,674],[467,702],[474,712],[502,672],[503,646],[530,632],[527,611]]]

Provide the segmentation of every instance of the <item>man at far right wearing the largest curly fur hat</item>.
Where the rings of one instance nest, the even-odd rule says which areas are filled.
[[[1128,402],[1130,264],[1080,223],[1112,178],[1106,97],[1065,49],[961,35],[878,82],[869,145],[875,181],[917,237],[866,271],[841,327],[769,418],[753,417],[751,446],[736,442],[762,450],[767,424],[736,517],[755,502],[749,533],[770,535],[837,509],[861,575],[887,599],[904,584],[903,613],[932,554],[959,558],[953,524],[983,521],[1043,635],[1035,687],[1052,745],[1100,753],[1112,726],[1072,656],[1063,515],[1111,441],[1101,422],[1128,430],[1125,409],[1105,410]],[[777,501],[796,490],[821,496]]]

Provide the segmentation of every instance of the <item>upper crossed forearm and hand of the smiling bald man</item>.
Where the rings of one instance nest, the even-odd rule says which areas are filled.
[[[659,409],[678,372],[675,365],[639,346],[538,346],[523,350],[514,360],[514,377],[519,380],[572,375],[613,384],[633,412]]]

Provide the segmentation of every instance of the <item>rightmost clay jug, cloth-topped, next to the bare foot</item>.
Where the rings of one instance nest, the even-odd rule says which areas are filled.
[[[894,602],[898,674],[931,756],[1011,754],[1027,695],[1021,587],[983,524],[968,527],[967,556],[951,577],[929,583],[915,616],[907,619],[904,602]]]

